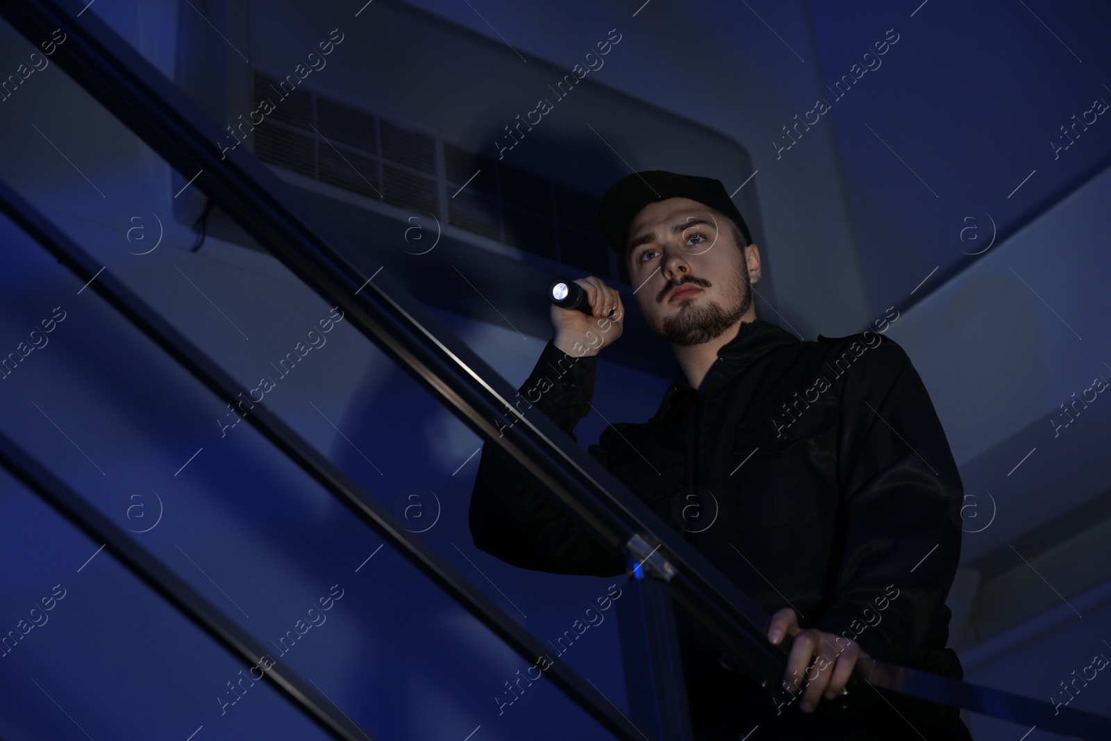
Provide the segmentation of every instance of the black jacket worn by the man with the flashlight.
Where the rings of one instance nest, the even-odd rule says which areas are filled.
[[[549,342],[521,393],[573,438],[595,368],[597,358]],[[961,678],[944,605],[960,558],[960,474],[892,340],[801,342],[770,322],[741,324],[701,389],[680,374],[651,419],[611,424],[589,452],[769,613],[792,607],[803,628],[854,639],[875,659]],[[482,451],[470,528],[477,548],[524,569],[625,571],[493,445]],[[790,695],[777,701],[727,672],[705,631],[681,610],[677,621],[702,738],[715,724],[832,712],[825,700],[813,715],[797,701],[780,705]],[[955,719],[940,705],[900,709]],[[939,738],[963,738],[953,733]]]

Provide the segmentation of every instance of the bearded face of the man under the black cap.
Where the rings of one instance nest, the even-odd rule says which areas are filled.
[[[738,249],[729,223],[688,198],[649,203],[633,219],[625,267],[649,327],[672,344],[709,342],[753,321],[755,244]]]

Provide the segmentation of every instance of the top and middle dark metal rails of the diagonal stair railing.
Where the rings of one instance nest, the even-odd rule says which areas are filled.
[[[654,581],[644,584],[641,605],[647,618],[642,635],[648,640],[663,635],[669,647],[675,644],[673,625],[669,628],[673,598],[718,638],[748,674],[761,683],[778,684],[787,653],[764,639],[768,614],[755,602],[551,420],[540,413],[520,414],[510,403],[516,389],[388,274],[380,274],[379,266],[307,209],[266,166],[246,150],[221,159],[212,143],[222,137],[219,126],[94,13],[78,19],[80,8],[69,0],[34,3],[0,0],[0,13],[32,42],[62,29],[67,42],[58,47],[52,59],[78,84],[176,170],[186,177],[199,173],[192,187],[203,191],[267,246],[307,286],[331,304],[340,306],[359,331],[472,430],[500,445],[552,492],[585,532],[614,553],[623,553],[635,567],[637,575],[643,575],[643,569],[650,567],[651,573],[657,574],[653,579],[664,582],[663,598],[661,601],[661,591],[655,589],[660,584]],[[62,258],[79,277],[89,280],[101,268],[10,189],[4,187],[0,196],[9,218]],[[158,314],[139,312],[138,298],[108,271],[91,286],[213,392],[234,398],[239,389],[233,380]],[[499,423],[504,417],[514,423],[509,427]],[[539,654],[536,639],[400,528],[372,498],[288,425],[266,412],[262,404],[247,419],[523,658],[531,661]],[[119,553],[124,550],[123,544],[117,549]],[[642,555],[644,550],[647,555]],[[663,665],[659,662],[671,661],[673,665],[674,654],[653,654],[648,660],[657,662],[659,670]],[[558,671],[552,671],[557,668]],[[553,682],[610,731],[627,739],[643,735],[564,665],[553,665],[552,670],[549,673]],[[648,703],[657,714],[654,720],[650,719],[653,735],[669,740],[689,738],[689,719],[683,717],[685,707],[677,701],[682,698],[681,677],[674,678],[667,671],[655,671],[652,675],[658,680],[654,698]],[[674,679],[678,683],[665,687]],[[1069,709],[1054,715],[1053,707],[1047,702],[882,662],[877,663],[872,683],[1018,722],[1037,723],[1044,730],[1090,739],[1111,734],[1111,720],[1105,718]],[[292,699],[297,701],[296,693]],[[665,711],[673,717],[669,719]],[[319,714],[307,712],[321,722]],[[337,732],[334,727],[330,730]]]

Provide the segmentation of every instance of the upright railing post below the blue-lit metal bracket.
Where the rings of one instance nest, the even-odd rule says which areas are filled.
[[[659,741],[693,741],[674,604],[673,567],[634,535],[627,544],[632,579],[618,607],[630,720]]]

